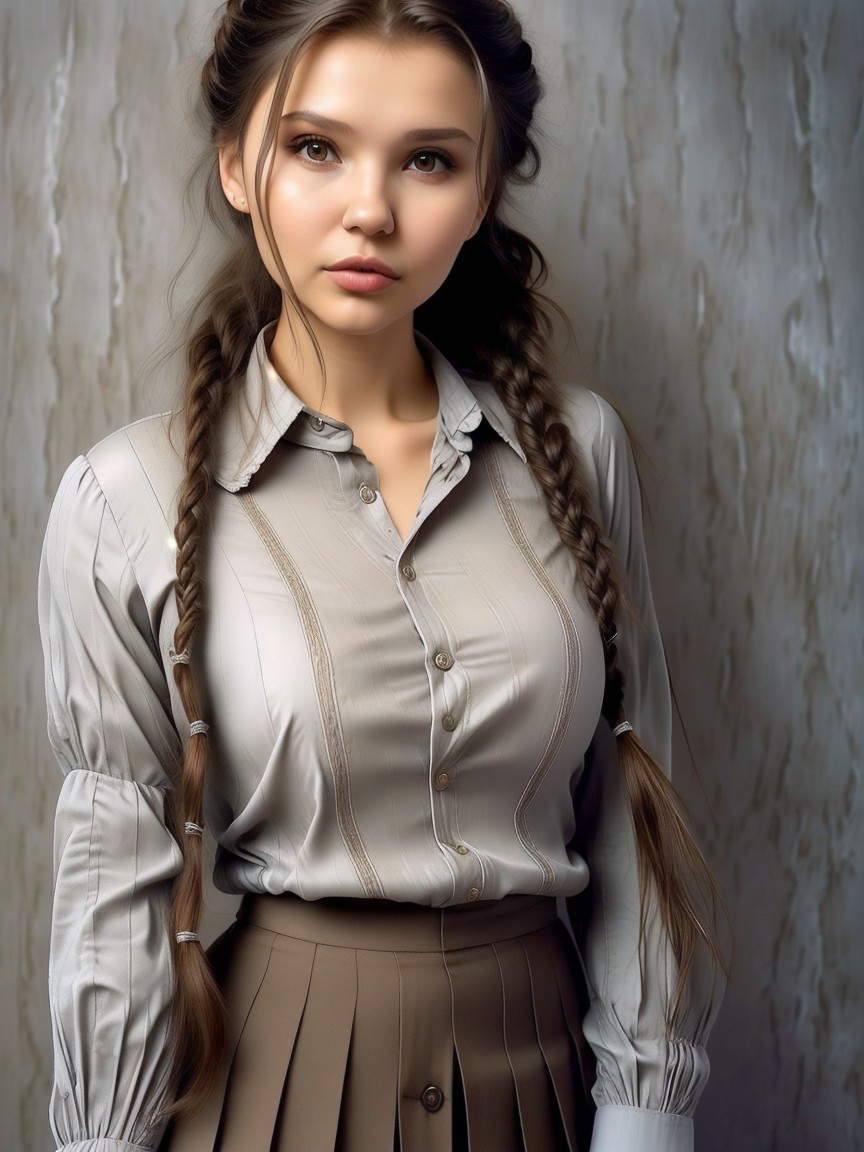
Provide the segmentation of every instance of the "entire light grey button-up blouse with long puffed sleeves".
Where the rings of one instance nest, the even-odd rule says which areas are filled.
[[[600,638],[511,422],[488,385],[467,382],[424,342],[440,411],[403,541],[350,429],[300,402],[267,335],[220,424],[209,611],[192,652],[217,885],[446,907],[568,896],[590,876],[593,1152],[684,1152],[717,998],[695,984],[688,1034],[665,1037],[674,963],[657,918],[641,978],[632,823],[598,725]],[[619,621],[628,717],[668,763],[627,437],[584,389],[568,394],[567,415],[634,608]],[[152,417],[76,460],[45,539],[48,730],[66,776],[52,1124],[66,1152],[150,1150],[161,1134],[165,909],[181,864],[164,799],[188,733],[169,661],[179,435]],[[574,804],[586,764],[602,767],[591,813]]]

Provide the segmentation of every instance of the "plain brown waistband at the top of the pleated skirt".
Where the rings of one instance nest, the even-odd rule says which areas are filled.
[[[513,940],[558,919],[551,896],[505,896],[452,908],[388,900],[301,900],[245,895],[241,924],[338,948],[371,952],[450,952]]]

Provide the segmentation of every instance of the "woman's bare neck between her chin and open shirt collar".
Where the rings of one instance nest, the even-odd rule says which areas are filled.
[[[270,358],[304,404],[356,427],[370,420],[425,420],[438,412],[438,391],[417,348],[412,318],[382,332],[355,335],[312,320],[325,378],[303,325],[282,312]]]

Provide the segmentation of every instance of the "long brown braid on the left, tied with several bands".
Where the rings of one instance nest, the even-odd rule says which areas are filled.
[[[190,734],[180,765],[173,826],[183,851],[183,870],[172,894],[174,941],[173,1000],[174,1100],[167,1109],[198,1107],[212,1084],[225,1043],[222,996],[197,940],[202,905],[202,834],[207,771],[207,723],[196,680],[195,642],[204,614],[205,561],[212,488],[213,431],[233,382],[242,373],[259,328],[278,314],[275,286],[262,288],[257,252],[249,241],[217,272],[203,298],[204,319],[187,346],[184,479],[177,499],[174,682]],[[180,940],[177,940],[177,935]]]

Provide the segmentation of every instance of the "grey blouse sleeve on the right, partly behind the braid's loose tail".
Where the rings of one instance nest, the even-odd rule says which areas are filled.
[[[651,600],[636,468],[617,415],[589,395],[596,409],[590,464],[629,604],[616,619],[624,714],[668,771],[669,687]],[[691,1152],[691,1117],[708,1075],[704,1045],[720,992],[707,957],[699,956],[685,1018],[677,1034],[667,1038],[665,1009],[677,969],[653,902],[645,962],[639,964],[636,839],[615,737],[605,720],[585,757],[576,806],[577,848],[591,876],[571,908],[589,984],[584,1032],[597,1058],[591,1152]]]

